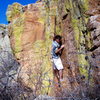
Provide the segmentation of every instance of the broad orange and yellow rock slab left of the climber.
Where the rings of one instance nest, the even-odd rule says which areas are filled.
[[[19,11],[16,16],[12,15],[14,9]],[[44,4],[39,2],[22,7],[15,3],[9,6],[7,15],[12,49],[21,64],[19,80],[31,87],[35,94],[51,94],[51,41],[50,33],[46,32]]]

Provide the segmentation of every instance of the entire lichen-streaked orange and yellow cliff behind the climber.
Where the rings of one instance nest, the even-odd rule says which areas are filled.
[[[39,0],[27,6],[14,3],[8,7],[7,18],[11,47],[21,65],[20,83],[35,95],[100,96],[99,0]],[[50,60],[56,34],[63,36],[65,44],[62,87],[56,85]]]

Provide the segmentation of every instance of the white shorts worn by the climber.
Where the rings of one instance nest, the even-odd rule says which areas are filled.
[[[57,59],[53,58],[53,69],[54,70],[55,69],[58,69],[58,70],[64,69],[60,57]]]

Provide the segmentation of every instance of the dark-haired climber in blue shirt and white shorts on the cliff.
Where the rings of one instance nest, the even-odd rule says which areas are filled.
[[[60,59],[60,55],[62,50],[64,49],[64,45],[62,45],[62,37],[60,35],[56,35],[54,37],[52,43],[52,61],[53,61],[53,71],[54,75],[57,77],[58,82],[63,81],[63,65]]]

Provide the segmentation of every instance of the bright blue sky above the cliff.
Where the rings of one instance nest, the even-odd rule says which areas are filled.
[[[18,2],[22,5],[35,3],[37,0],[0,0],[0,24],[7,24],[6,10],[8,5]]]

